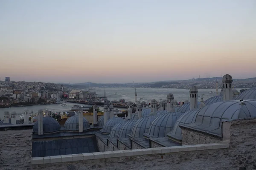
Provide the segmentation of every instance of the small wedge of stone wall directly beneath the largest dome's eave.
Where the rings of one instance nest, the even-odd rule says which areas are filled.
[[[222,139],[214,136],[207,135],[207,133],[196,132],[191,129],[181,127],[182,131],[182,144],[207,144],[207,143],[220,143]]]

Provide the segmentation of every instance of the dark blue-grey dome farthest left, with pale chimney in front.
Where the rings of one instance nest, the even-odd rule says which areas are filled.
[[[61,129],[60,124],[52,117],[43,117],[43,133],[52,133]],[[38,133],[38,121],[33,126],[33,132]]]

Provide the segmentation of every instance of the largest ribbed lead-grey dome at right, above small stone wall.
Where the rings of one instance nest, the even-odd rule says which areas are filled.
[[[192,124],[183,125],[195,130],[221,136],[221,122],[230,119],[256,117],[256,100],[217,102],[201,108]]]

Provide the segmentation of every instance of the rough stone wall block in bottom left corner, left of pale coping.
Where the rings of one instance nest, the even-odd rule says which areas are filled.
[[[31,169],[32,129],[0,131],[0,170]]]

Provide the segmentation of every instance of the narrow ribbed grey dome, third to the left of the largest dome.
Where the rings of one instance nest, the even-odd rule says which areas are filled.
[[[151,123],[157,116],[150,115],[139,119],[131,130],[129,135],[132,138],[143,138],[143,133],[147,133]]]

